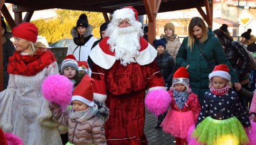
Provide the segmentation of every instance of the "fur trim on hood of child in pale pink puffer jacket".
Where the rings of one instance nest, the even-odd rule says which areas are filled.
[[[99,111],[96,113],[95,117],[103,119],[105,122],[109,118],[109,109],[105,105],[105,103],[93,100],[94,103],[98,106]]]

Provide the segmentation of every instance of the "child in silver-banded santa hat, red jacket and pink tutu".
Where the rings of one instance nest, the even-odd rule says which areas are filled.
[[[175,137],[176,144],[186,144],[187,130],[200,112],[201,106],[189,87],[189,74],[185,67],[178,68],[173,76],[169,94],[172,98],[171,108],[160,125],[166,133]]]

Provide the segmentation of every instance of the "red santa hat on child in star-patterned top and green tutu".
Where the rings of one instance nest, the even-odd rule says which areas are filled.
[[[221,77],[228,81],[231,81],[231,76],[229,74],[229,67],[227,65],[221,64],[214,67],[211,74],[209,74],[209,80],[212,81],[213,77]]]

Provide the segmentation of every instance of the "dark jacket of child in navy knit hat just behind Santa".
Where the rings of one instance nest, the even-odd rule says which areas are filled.
[[[164,78],[165,86],[170,87],[172,85],[173,74],[174,74],[174,60],[172,56],[165,51],[163,55],[157,55],[156,57],[157,65],[160,69],[160,72]]]

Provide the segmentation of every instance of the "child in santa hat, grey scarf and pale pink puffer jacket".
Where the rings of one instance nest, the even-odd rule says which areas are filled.
[[[53,116],[62,125],[68,126],[69,142],[73,144],[106,144],[105,122],[109,117],[109,109],[105,103],[93,101],[92,82],[85,75],[72,94],[72,108],[62,110],[50,104]]]

